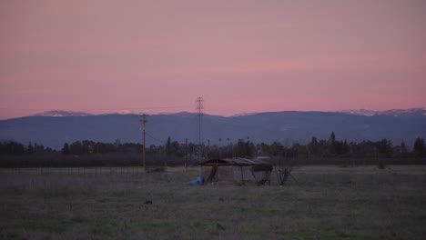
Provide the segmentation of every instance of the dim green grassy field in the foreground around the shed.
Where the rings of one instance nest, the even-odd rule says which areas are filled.
[[[424,165],[302,166],[285,186],[191,186],[189,170],[0,170],[0,238],[426,238]]]

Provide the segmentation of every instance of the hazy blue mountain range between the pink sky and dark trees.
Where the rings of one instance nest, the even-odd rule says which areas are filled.
[[[422,112],[421,112],[422,111]],[[305,144],[312,136],[327,139],[334,131],[337,139],[350,141],[391,139],[394,144],[412,145],[418,136],[426,137],[424,109],[386,111],[389,114],[360,115],[332,112],[271,112],[250,115],[204,115],[202,136],[207,144],[236,143],[239,138],[254,143],[279,141],[284,145]],[[59,149],[76,140],[142,142],[139,116],[128,115],[34,115],[0,120],[0,139],[28,142]],[[198,142],[196,114],[177,113],[147,117],[147,145],[163,145],[167,136],[181,143]]]

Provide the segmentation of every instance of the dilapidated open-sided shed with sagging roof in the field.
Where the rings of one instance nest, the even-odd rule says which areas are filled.
[[[202,165],[206,183],[234,183],[245,185],[270,183],[272,165],[259,158],[241,157],[210,159]]]

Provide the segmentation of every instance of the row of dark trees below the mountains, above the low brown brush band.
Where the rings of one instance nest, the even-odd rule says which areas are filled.
[[[220,139],[219,139],[220,142]],[[61,155],[107,155],[107,154],[141,154],[143,145],[136,143],[124,143],[119,140],[114,143],[102,143],[89,140],[65,143],[60,151],[53,150],[44,145],[23,145],[14,141],[0,142],[0,155],[44,155],[56,153]],[[308,144],[294,143],[290,146],[279,142],[272,144],[254,144],[248,139],[238,139],[237,143],[228,145],[208,145],[204,143],[179,143],[172,141],[170,137],[164,145],[149,145],[146,148],[147,155],[167,155],[183,157],[185,155],[198,155],[208,158],[224,157],[255,157],[265,156],[289,156],[289,157],[422,157],[426,156],[426,146],[423,138],[417,137],[412,149],[404,142],[393,145],[390,140],[362,141],[359,143],[348,142],[346,139],[339,141],[334,132],[328,139],[318,139],[313,136]]]

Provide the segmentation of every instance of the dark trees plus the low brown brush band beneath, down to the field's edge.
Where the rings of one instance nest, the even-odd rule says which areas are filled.
[[[140,165],[143,145],[101,143],[89,140],[65,143],[62,149],[52,150],[44,145],[23,145],[14,141],[0,142],[1,166],[43,166],[43,165]],[[201,158],[225,158],[269,156],[298,158],[300,164],[338,164],[338,165],[384,165],[388,164],[425,164],[426,147],[421,137],[415,139],[412,149],[404,142],[393,145],[390,140],[350,142],[338,140],[332,132],[328,139],[313,136],[306,145],[293,143],[286,146],[279,142],[255,145],[244,138],[236,144],[227,145],[181,144],[167,138],[165,145],[149,145],[146,148],[147,163],[150,165],[181,165],[188,158],[189,165]],[[15,157],[12,157],[15,156]],[[18,161],[17,159],[24,159]],[[273,161],[273,160],[272,160]]]

